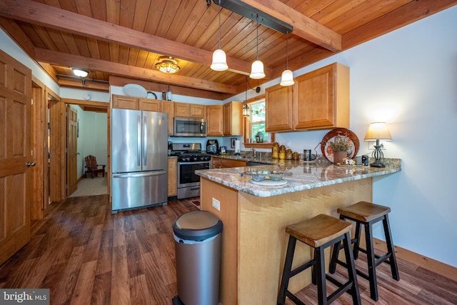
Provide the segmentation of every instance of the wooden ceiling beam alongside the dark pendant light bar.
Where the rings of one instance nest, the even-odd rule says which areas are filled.
[[[292,9],[279,0],[240,0],[277,19],[291,24],[293,34],[330,51],[341,51],[341,35]]]

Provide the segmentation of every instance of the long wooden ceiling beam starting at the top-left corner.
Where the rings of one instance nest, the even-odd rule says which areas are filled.
[[[67,31],[72,34],[89,36],[102,41],[165,54],[166,56],[174,56],[178,59],[185,59],[206,66],[209,66],[213,59],[212,51],[128,29],[124,26],[110,24],[36,1],[2,0],[0,1],[0,15],[60,31]],[[229,71],[245,75],[251,73],[251,63],[248,61],[228,57],[227,64],[229,64]],[[272,71],[268,66],[265,67],[265,71],[266,74],[271,75]]]

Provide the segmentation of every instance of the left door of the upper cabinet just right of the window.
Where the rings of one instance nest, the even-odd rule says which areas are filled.
[[[271,86],[265,90],[266,131],[291,131],[293,86]]]

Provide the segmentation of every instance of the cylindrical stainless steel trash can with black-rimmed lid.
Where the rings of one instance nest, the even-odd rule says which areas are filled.
[[[222,229],[209,211],[191,211],[174,221],[178,295],[173,304],[219,303]]]

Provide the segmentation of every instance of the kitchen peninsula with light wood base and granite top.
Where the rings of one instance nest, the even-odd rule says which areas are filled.
[[[373,177],[401,171],[393,159],[384,169],[340,166],[328,162],[286,161],[265,166],[196,171],[201,176],[201,209],[224,223],[221,251],[221,304],[276,304],[288,224],[317,214],[338,217],[336,209],[371,201]],[[252,171],[286,172],[280,186],[251,182]],[[214,205],[218,205],[216,209]],[[380,204],[388,205],[388,202]],[[310,258],[308,246],[298,245],[294,266]],[[329,252],[326,252],[328,262]],[[310,271],[294,276],[289,290],[311,283]]]

